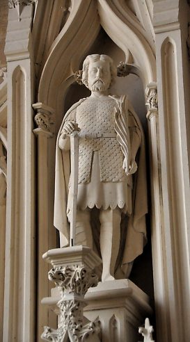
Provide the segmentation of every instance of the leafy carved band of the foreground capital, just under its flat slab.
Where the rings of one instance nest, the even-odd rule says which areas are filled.
[[[56,267],[48,273],[48,278],[64,293],[85,295],[88,288],[97,286],[98,277],[84,266]]]

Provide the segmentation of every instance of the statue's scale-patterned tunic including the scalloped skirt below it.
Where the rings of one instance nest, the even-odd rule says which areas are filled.
[[[122,168],[124,156],[114,129],[115,107],[116,101],[110,97],[88,97],[77,107],[77,113],[67,117],[67,121],[76,121],[81,129],[78,209],[94,206],[115,209],[118,206],[125,213],[132,211],[131,176],[127,177]],[[71,203],[69,186],[68,218]]]

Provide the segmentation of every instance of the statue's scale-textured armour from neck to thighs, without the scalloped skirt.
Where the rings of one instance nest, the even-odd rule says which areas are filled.
[[[116,101],[110,97],[89,97],[77,107],[79,138],[79,184],[90,182],[93,152],[98,151],[101,181],[124,181],[123,154],[116,139],[114,112]],[[100,138],[102,136],[102,138]]]

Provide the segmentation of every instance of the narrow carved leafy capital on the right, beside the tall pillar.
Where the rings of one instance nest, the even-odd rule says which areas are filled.
[[[148,108],[148,113],[146,117],[148,118],[148,120],[150,120],[151,117],[158,115],[158,97],[157,97],[157,83],[156,82],[152,82],[148,84],[145,90],[145,95],[146,95],[145,105]]]

